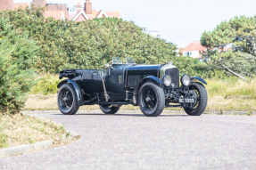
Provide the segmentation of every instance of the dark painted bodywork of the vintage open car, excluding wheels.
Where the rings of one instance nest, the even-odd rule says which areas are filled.
[[[159,77],[162,66],[163,65],[113,64],[107,70],[64,69],[60,72],[60,78],[68,77],[68,79],[63,80],[58,85],[58,88],[64,83],[70,83],[76,90],[79,105],[99,104],[106,102],[103,90],[104,81],[106,91],[110,96],[108,100],[109,103],[133,103],[137,105],[137,94],[140,86],[146,81],[153,81],[157,85],[164,87],[164,92],[167,96],[174,93],[171,94],[171,101],[178,102],[177,100],[180,93],[186,93],[185,91],[188,89],[179,87],[179,71],[177,68],[167,69],[165,72],[165,74],[171,76],[171,80],[175,86],[164,86]],[[192,78],[206,83],[200,77]]]

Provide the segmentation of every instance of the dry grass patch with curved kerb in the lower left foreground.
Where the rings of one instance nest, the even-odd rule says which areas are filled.
[[[0,149],[47,140],[63,145],[77,139],[50,119],[26,114],[0,115]]]

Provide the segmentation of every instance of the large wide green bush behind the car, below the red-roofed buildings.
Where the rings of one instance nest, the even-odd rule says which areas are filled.
[[[57,73],[61,69],[103,69],[111,57],[133,57],[136,63],[162,64],[173,61],[181,74],[201,74],[202,62],[177,57],[176,45],[165,44],[160,37],[142,32],[132,21],[103,18],[73,22],[44,18],[43,9],[31,8],[0,12],[15,28],[29,32],[40,46],[39,73]],[[197,67],[197,68],[195,68]],[[198,73],[198,74],[197,74]]]

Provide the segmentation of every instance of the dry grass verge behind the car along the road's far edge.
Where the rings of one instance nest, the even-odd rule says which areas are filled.
[[[29,100],[26,102],[27,110],[49,110],[57,107],[58,75],[39,76],[39,83],[32,88]],[[244,82],[236,77],[206,78],[205,85],[208,93],[206,110],[256,110],[256,79]],[[80,109],[99,109],[98,106],[83,106]],[[139,109],[131,105],[122,106],[121,109]],[[169,108],[173,109],[173,108]],[[177,109],[177,108],[174,108]]]

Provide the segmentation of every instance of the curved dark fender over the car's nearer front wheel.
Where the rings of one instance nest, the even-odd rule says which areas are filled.
[[[164,85],[163,82],[161,81],[161,79],[159,79],[158,77],[145,77],[143,78],[135,87],[134,89],[134,93],[133,93],[133,102],[135,104],[138,104],[138,91],[140,89],[140,87],[145,84],[146,81],[148,80],[152,80],[155,84],[157,85]]]

